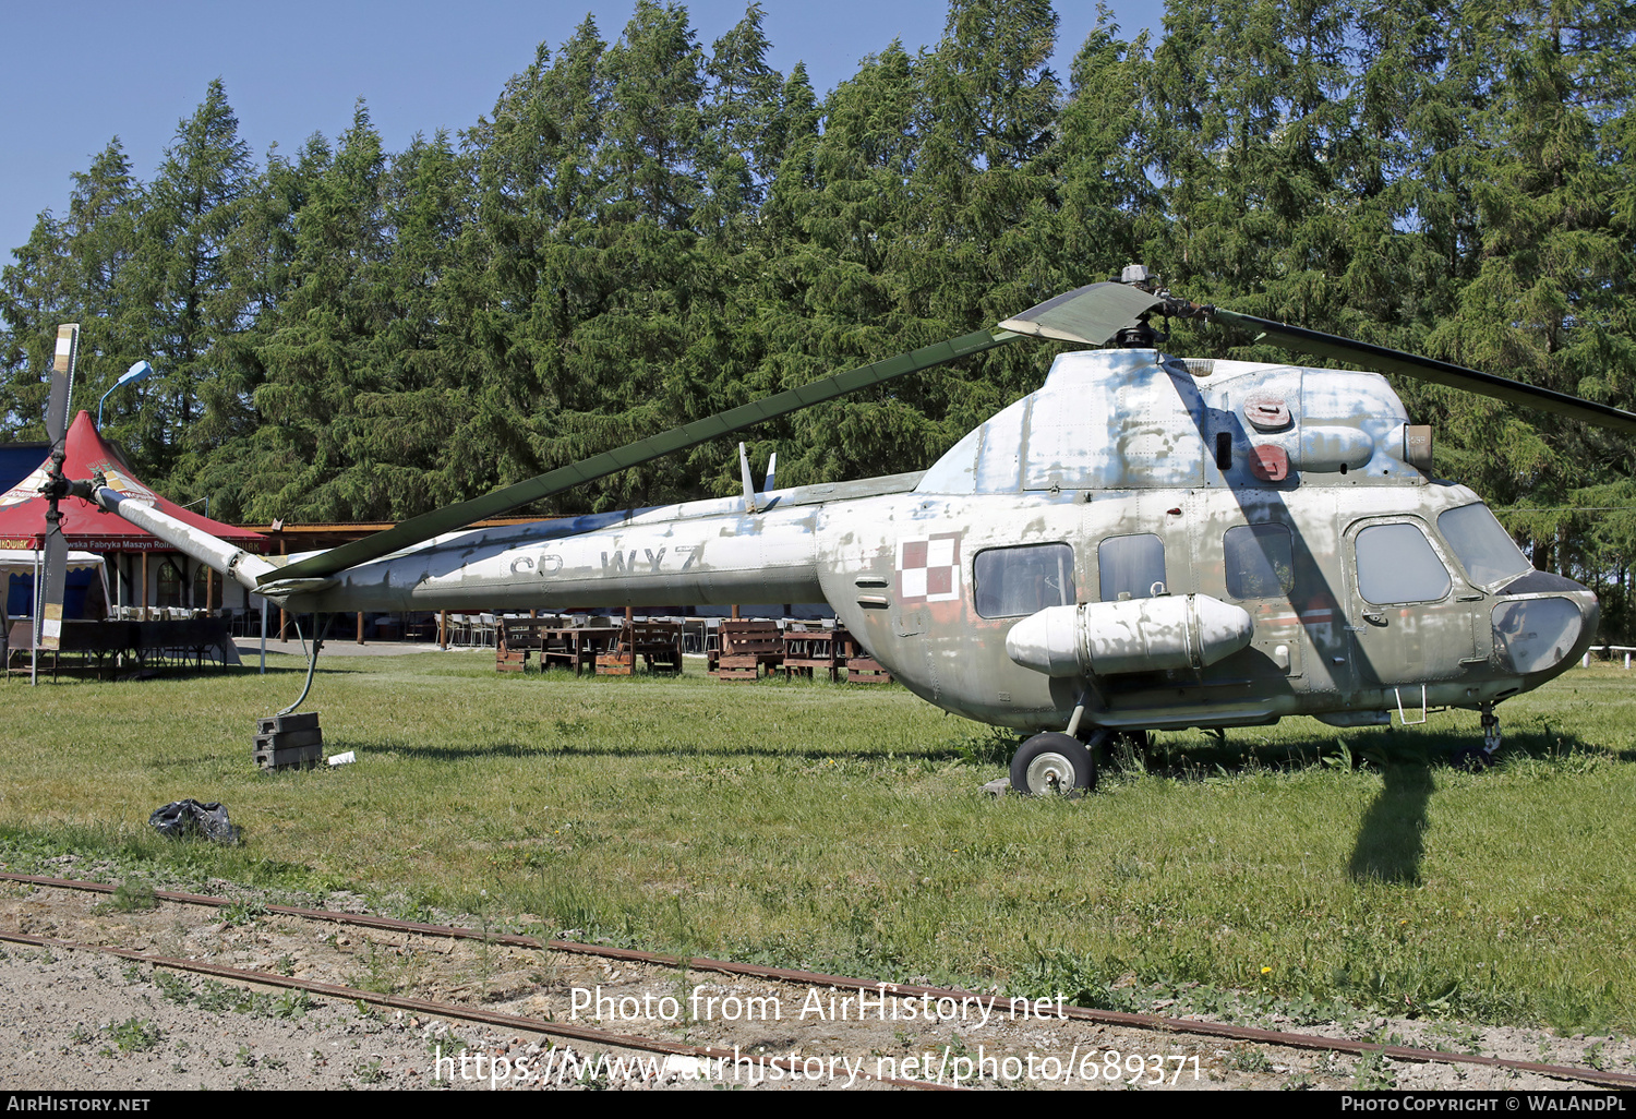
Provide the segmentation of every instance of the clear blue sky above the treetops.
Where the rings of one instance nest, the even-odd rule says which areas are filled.
[[[685,3],[708,47],[744,15],[744,0]],[[1109,0],[1126,34],[1158,31],[1163,0]],[[388,151],[416,133],[452,134],[494,106],[542,41],[553,49],[591,11],[615,39],[635,0],[466,0],[352,3],[285,0],[80,0],[52,10],[0,2],[0,260],[28,240],[43,209],[67,208],[70,175],[118,136],[139,178],[152,177],[177,123],[221,79],[257,162],[294,154],[312,133],[335,137],[362,97]],[[942,36],[944,0],[764,0],[769,62],[807,62],[823,95],[892,39],[911,52]],[[1094,0],[1057,0],[1057,69],[1096,25]]]

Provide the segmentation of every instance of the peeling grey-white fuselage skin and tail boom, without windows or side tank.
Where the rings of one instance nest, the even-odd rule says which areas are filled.
[[[1507,671],[1489,622],[1503,591],[1472,584],[1438,528],[1438,514],[1477,496],[1409,465],[1407,420],[1374,373],[1214,362],[1194,378],[1153,350],[1068,353],[1044,388],[924,476],[775,491],[757,499],[761,512],[733,497],[458,533],[347,571],[291,607],[825,599],[915,694],[1024,730],[1060,730],[1081,699],[1093,723],[1180,728],[1414,707],[1422,684],[1427,703],[1461,707],[1536,687],[1589,645],[1595,599],[1571,592],[1584,622],[1571,654],[1526,676]],[[1286,476],[1256,471],[1266,448],[1288,461]],[[1425,533],[1449,574],[1443,597],[1387,607],[1360,597],[1353,538],[1382,520]],[[1243,525],[1288,540],[1288,556],[1268,556],[1281,584],[1260,586],[1260,597],[1235,595],[1227,569],[1225,535]],[[978,615],[978,556],[1065,543],[1075,600],[1098,602],[1099,551],[1114,537],[1160,542],[1153,591],[1243,607],[1255,625],[1248,648],[1201,671],[1094,681],[1013,663],[1005,638],[1019,617]]]

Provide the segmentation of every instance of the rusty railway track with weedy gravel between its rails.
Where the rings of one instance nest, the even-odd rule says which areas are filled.
[[[118,887],[0,874],[11,888],[110,900]],[[651,1054],[666,1081],[780,1086],[1271,1086],[1374,1083],[1633,1088],[1636,1076],[1472,1052],[1324,1037],[1230,1022],[1009,1000],[910,983],[537,939],[365,913],[155,890],[167,913],[106,901],[0,919],[0,941],[98,952],[214,982],[303,991],[360,1006],[538,1037],[542,1054]],[[177,915],[191,915],[191,921]],[[200,919],[203,918],[203,921]],[[16,924],[18,928],[10,928]],[[46,926],[51,928],[33,928]],[[430,1060],[450,1060],[437,1054]],[[489,1052],[491,1083],[494,1060]],[[538,1058],[537,1058],[538,1060]],[[481,1063],[481,1062],[479,1062]],[[649,1076],[651,1080],[653,1076]],[[561,1083],[561,1076],[558,1076]],[[524,1081],[515,1081],[520,1086]]]

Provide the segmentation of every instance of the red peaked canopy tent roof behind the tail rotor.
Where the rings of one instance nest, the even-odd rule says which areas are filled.
[[[97,434],[90,412],[82,411],[74,417],[74,424],[69,427],[67,453],[62,473],[69,478],[103,474],[108,486],[126,497],[151,502],[160,512],[185,520],[213,537],[231,540],[245,551],[267,551],[268,542],[262,533],[224,525],[190,509],[182,509],[137,481],[124,458]],[[46,483],[49,471],[51,460],[47,458],[39,470],[0,494],[0,548],[46,546],[46,499],[39,496],[39,488]],[[62,535],[70,548],[82,551],[175,551],[173,545],[146,528],[137,528],[123,517],[103,512],[88,501],[69,497],[61,502],[61,509]]]

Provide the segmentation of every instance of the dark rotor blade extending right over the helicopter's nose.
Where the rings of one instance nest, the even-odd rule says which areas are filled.
[[[1597,404],[1595,401],[1569,396],[1567,393],[1557,393],[1536,384],[1523,384],[1521,381],[1510,381],[1503,376],[1467,370],[1461,365],[1449,365],[1448,362],[1438,362],[1417,353],[1387,350],[1386,347],[1369,345],[1368,342],[1355,342],[1353,339],[1342,339],[1333,334],[1307,330],[1306,327],[1296,327],[1286,322],[1258,319],[1253,314],[1238,314],[1237,311],[1214,308],[1209,316],[1217,322],[1256,330],[1268,342],[1297,353],[1312,353],[1315,357],[1353,362],[1355,365],[1363,365],[1386,373],[1404,373],[1407,376],[1420,378],[1422,381],[1432,381],[1433,384],[1445,384],[1448,388],[1477,393],[1479,396],[1492,396],[1494,399],[1507,401],[1508,404],[1521,404],[1523,407],[1536,407],[1543,412],[1569,416],[1587,424],[1595,424],[1597,427],[1625,432],[1626,435],[1636,432],[1636,414],[1610,404]]]

